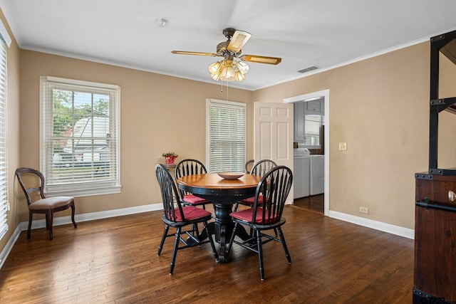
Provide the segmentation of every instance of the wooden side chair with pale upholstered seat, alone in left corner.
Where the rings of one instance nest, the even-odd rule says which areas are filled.
[[[25,175],[31,175],[32,177],[38,177],[38,181],[35,183],[24,182]],[[49,239],[53,239],[52,227],[54,212],[66,210],[71,208],[71,221],[73,222],[74,228],[78,225],[74,221],[74,198],[72,196],[44,196],[44,185],[45,179],[41,172],[36,169],[21,167],[16,169],[16,177],[19,180],[22,190],[27,199],[28,204],[28,229],[27,239],[31,238],[31,222],[33,220],[33,214],[46,214],[46,229],[49,231]],[[38,182],[38,186],[36,186]],[[32,194],[36,194],[32,196]],[[37,198],[37,199],[35,199]]]

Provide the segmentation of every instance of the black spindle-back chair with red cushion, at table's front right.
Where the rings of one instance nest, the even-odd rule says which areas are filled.
[[[274,167],[261,178],[257,191],[255,192],[253,208],[229,214],[235,224],[231,239],[229,240],[227,252],[229,254],[233,243],[237,243],[239,246],[257,253],[261,281],[264,280],[263,245],[265,243],[269,241],[281,243],[285,251],[286,259],[288,260],[288,263],[291,264],[291,256],[286,246],[281,226],[286,222],[282,217],[282,212],[284,211],[286,197],[290,192],[292,183],[293,174],[289,167]],[[264,195],[261,196],[261,194],[264,193],[268,193],[267,198]],[[245,241],[237,241],[235,236],[239,225],[249,226],[250,229],[254,231],[254,236]],[[276,236],[264,233],[264,231],[271,229],[276,229],[276,231],[279,232],[279,239]]]

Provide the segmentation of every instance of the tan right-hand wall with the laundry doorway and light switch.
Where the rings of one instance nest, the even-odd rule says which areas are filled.
[[[428,162],[429,49],[420,43],[254,92],[254,101],[281,102],[330,90],[332,211],[414,229],[413,174]]]

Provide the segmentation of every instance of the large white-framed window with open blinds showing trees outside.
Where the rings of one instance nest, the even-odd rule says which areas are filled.
[[[41,172],[45,192],[120,192],[118,85],[41,76]]]

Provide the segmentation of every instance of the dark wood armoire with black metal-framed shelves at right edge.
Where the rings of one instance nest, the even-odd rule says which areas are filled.
[[[415,174],[413,304],[456,303],[456,31],[430,39],[429,170]]]

